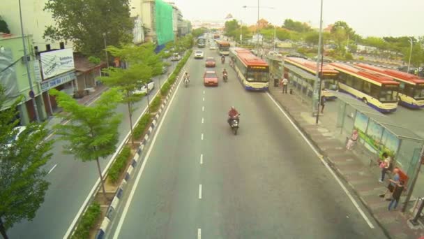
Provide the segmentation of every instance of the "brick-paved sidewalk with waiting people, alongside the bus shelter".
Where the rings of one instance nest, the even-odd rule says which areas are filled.
[[[289,85],[289,88],[292,88],[292,85]],[[423,227],[411,229],[408,223],[411,218],[409,210],[414,207],[414,203],[409,203],[405,214],[400,212],[404,196],[396,210],[388,211],[389,202],[379,197],[379,194],[386,191],[388,177],[384,183],[378,181],[380,169],[377,164],[370,166],[370,154],[358,147],[353,151],[345,150],[347,136],[340,134],[340,128],[336,128],[336,102],[326,102],[324,115],[319,115],[319,124],[315,124],[310,99],[304,95],[301,97],[296,90],[294,94],[282,94],[281,87],[273,85],[270,85],[269,93],[315,144],[329,166],[354,190],[389,238],[417,239],[424,235]]]

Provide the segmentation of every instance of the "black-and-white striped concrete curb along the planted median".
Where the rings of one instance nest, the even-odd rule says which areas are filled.
[[[183,72],[183,71],[181,71]],[[107,208],[106,216],[103,219],[103,222],[100,226],[100,229],[98,230],[96,234],[96,239],[103,239],[105,238],[105,235],[107,233],[107,230],[109,229],[110,222],[114,219],[116,216],[116,211],[119,207],[119,202],[121,201],[121,198],[123,196],[123,192],[126,190],[126,186],[128,182],[132,179],[132,173],[135,172],[135,168],[137,165],[142,164],[144,161],[144,158],[142,158],[142,153],[144,152],[144,148],[146,147],[146,144],[149,142],[149,138],[151,138],[151,135],[153,131],[156,129],[156,126],[158,125],[159,118],[162,116],[162,113],[165,111],[165,108],[167,107],[169,103],[169,98],[171,95],[175,94],[174,89],[176,88],[176,84],[179,83],[179,79],[174,81],[172,86],[169,89],[169,92],[165,99],[162,101],[162,104],[160,105],[160,108],[156,115],[153,117],[153,122],[151,123],[151,126],[149,127],[149,130],[147,131],[146,135],[144,136],[142,143],[140,143],[139,148],[137,152],[135,153],[130,166],[128,167],[128,170],[126,172],[125,177],[123,178],[123,181],[121,182],[121,185],[118,189],[116,189],[115,196],[112,200],[112,203],[110,203],[109,208]],[[160,93],[159,93],[160,94]]]

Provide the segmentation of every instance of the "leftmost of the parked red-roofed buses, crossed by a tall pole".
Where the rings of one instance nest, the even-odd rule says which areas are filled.
[[[307,91],[304,93],[308,96],[312,96],[315,80],[317,79],[316,61],[303,59],[301,57],[286,57],[284,60],[284,71],[285,78],[292,81],[294,87],[298,87],[298,85],[303,85],[303,89]],[[321,64],[319,66],[319,71],[321,71]],[[321,95],[324,96],[326,99],[335,99],[335,94],[325,89],[338,91],[338,74],[339,72],[335,71],[335,69],[333,69],[331,66],[328,66],[327,64],[324,64],[322,66],[323,76],[321,77],[321,88],[324,88],[324,90],[321,92]]]

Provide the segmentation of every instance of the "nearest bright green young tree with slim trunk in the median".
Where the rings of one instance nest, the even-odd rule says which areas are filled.
[[[94,106],[84,106],[64,92],[50,89],[50,94],[56,96],[59,107],[63,113],[59,115],[70,124],[57,124],[54,126],[56,134],[61,140],[68,142],[64,150],[67,154],[74,154],[81,161],[96,161],[103,196],[107,198],[99,158],[105,159],[116,151],[118,143],[118,126],[121,115],[114,110],[121,101],[121,94],[117,89],[104,92]]]

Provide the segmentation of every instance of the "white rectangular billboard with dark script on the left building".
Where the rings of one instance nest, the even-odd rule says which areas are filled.
[[[40,60],[44,80],[75,68],[72,49],[43,52],[40,54]]]

